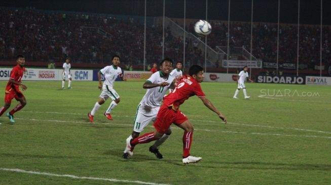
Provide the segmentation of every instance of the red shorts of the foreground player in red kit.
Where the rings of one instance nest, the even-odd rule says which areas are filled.
[[[158,132],[165,133],[172,123],[180,125],[186,120],[188,118],[180,110],[174,111],[171,107],[162,105],[154,122],[154,127]]]

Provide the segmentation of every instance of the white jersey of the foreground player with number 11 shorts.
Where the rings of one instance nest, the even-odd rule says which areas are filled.
[[[174,77],[170,75],[168,79],[164,79],[161,71],[152,74],[152,76],[146,81],[149,81],[151,83],[162,83],[166,81],[169,83],[169,85],[147,89],[146,94],[142,97],[142,100],[140,101],[140,105],[143,107],[146,106],[150,108],[160,107],[163,97],[166,91],[169,89],[169,86],[171,85],[173,79]]]

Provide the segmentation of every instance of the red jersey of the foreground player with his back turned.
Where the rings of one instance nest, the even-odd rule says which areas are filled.
[[[192,76],[186,75],[180,78],[176,88],[163,99],[163,104],[172,106],[177,110],[179,105],[183,104],[192,96],[205,97],[206,95],[201,89],[200,83]]]

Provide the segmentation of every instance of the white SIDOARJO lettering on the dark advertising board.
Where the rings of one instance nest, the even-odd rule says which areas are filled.
[[[258,76],[260,83],[289,83],[289,84],[304,84],[305,80],[300,76]]]

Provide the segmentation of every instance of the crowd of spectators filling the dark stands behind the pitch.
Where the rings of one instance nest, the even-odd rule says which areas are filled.
[[[104,14],[53,12],[34,9],[0,8],[0,60],[12,60],[18,53],[28,61],[62,61],[70,57],[77,63],[108,62],[113,54],[130,64],[143,63],[143,23],[133,18],[118,19]],[[227,22],[212,21],[207,43],[215,48],[227,45]],[[193,31],[194,23],[188,27]],[[319,26],[300,26],[300,63],[319,63]],[[329,27],[323,27],[322,60],[331,61]],[[160,61],[162,25],[146,26],[146,62]],[[275,62],[277,24],[254,23],[252,54],[266,62]],[[183,58],[183,37],[175,37],[165,28],[165,56]],[[231,22],[230,47],[250,50],[250,23]],[[189,38],[186,40],[187,64],[203,64],[204,52]],[[297,61],[297,25],[280,25],[279,62]]]

